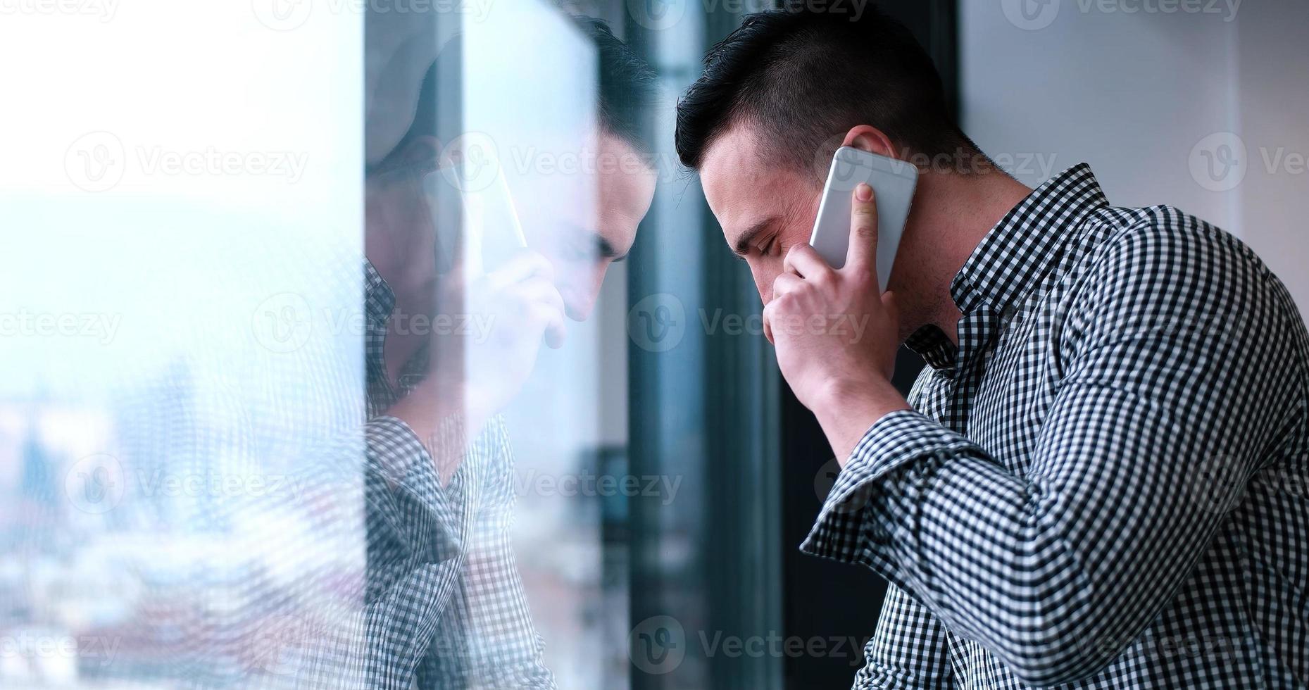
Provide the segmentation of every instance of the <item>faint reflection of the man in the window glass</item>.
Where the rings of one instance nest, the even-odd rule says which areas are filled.
[[[442,247],[429,175],[452,162],[433,111],[445,58],[427,72],[414,124],[367,177],[370,687],[554,687],[509,549],[513,470],[497,411],[542,339],[562,343],[563,317],[588,317],[656,177],[640,136],[654,75],[602,24],[581,26],[600,62],[593,151],[618,161],[593,166],[593,227],[525,228],[526,249],[486,272]]]

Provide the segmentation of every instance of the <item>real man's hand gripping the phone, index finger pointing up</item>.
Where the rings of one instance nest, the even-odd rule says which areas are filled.
[[[792,247],[763,308],[763,331],[778,365],[813,410],[844,465],[873,422],[907,410],[891,386],[899,329],[894,296],[878,295],[877,204],[855,190],[846,266],[833,268],[809,245]]]

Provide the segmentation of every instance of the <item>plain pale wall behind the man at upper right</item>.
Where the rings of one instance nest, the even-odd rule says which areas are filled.
[[[959,8],[963,128],[983,151],[1012,157],[1029,185],[1086,161],[1114,204],[1215,223],[1309,313],[1309,3]],[[1230,165],[1212,158],[1227,152]]]

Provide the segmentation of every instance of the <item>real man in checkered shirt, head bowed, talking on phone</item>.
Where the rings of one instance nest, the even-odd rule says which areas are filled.
[[[881,296],[870,189],[843,268],[806,245],[836,144],[922,173]],[[876,12],[749,16],[677,148],[843,465],[801,549],[890,581],[856,687],[1309,686],[1309,338],[1250,249],[995,172]]]

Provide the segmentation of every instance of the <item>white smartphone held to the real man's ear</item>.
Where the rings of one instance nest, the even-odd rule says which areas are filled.
[[[912,164],[852,147],[838,148],[831,157],[809,244],[833,268],[846,264],[851,196],[860,182],[873,187],[877,200],[877,281],[878,288],[886,292],[886,280],[891,276],[895,250],[905,234],[905,221],[918,186],[918,169]]]

